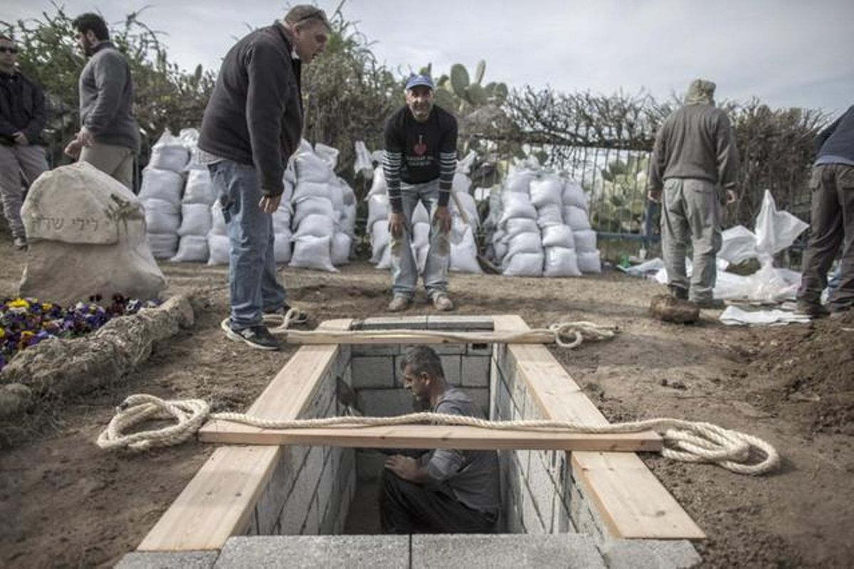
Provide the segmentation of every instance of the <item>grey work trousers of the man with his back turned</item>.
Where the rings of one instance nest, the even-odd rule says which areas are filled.
[[[693,274],[688,282],[687,247],[693,247]],[[670,287],[688,291],[693,302],[708,302],[717,281],[721,250],[721,200],[717,184],[696,178],[664,180],[661,206],[661,249]]]

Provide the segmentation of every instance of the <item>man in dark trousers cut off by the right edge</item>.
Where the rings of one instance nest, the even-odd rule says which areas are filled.
[[[804,275],[798,289],[798,312],[821,317],[854,307],[854,107],[849,107],[816,138],[812,166],[810,243],[804,251]],[[822,306],[828,270],[839,249],[839,287]]]

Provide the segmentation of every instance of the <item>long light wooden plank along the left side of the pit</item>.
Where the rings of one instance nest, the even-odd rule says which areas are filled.
[[[351,322],[332,320],[322,327],[346,330]],[[267,419],[297,418],[337,351],[335,345],[300,348],[247,412]],[[278,446],[266,445],[215,450],[137,549],[221,549],[229,537],[245,530],[280,452]]]

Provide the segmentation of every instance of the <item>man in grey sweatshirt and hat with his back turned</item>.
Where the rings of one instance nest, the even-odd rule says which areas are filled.
[[[655,138],[649,198],[661,206],[661,248],[670,294],[717,308],[712,290],[721,249],[721,195],[738,199],[738,151],[727,114],[715,107],[715,84],[696,79],[685,104],[664,120]],[[664,189],[664,194],[662,193]],[[685,253],[693,245],[688,282]]]

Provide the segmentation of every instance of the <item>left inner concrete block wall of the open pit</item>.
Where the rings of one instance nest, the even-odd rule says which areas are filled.
[[[339,346],[301,418],[342,415],[338,380],[352,386],[350,348]],[[278,464],[261,492],[247,536],[340,533],[356,486],[355,451],[337,447],[282,447]]]

